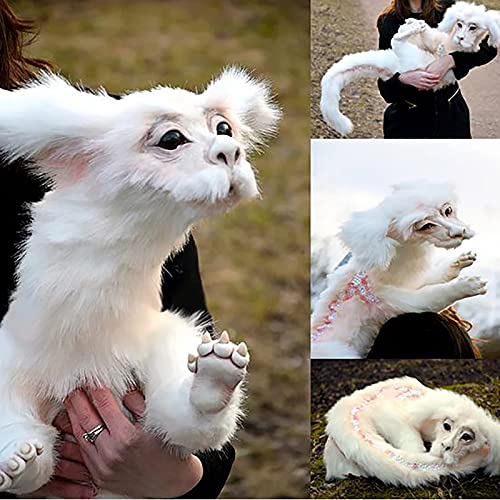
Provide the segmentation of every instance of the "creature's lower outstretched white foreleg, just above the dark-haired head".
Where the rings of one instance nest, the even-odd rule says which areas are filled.
[[[484,295],[486,282],[477,276],[459,278],[448,283],[429,285],[417,290],[392,286],[381,287],[378,296],[400,313],[440,312],[467,297]]]

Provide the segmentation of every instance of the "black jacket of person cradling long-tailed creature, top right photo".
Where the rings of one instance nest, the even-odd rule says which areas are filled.
[[[443,1],[444,9],[438,15],[439,23],[444,11],[453,1]],[[419,19],[420,14],[411,17]],[[387,14],[378,22],[379,48],[391,48],[391,40],[404,19],[396,14]],[[478,52],[452,53],[455,60],[453,72],[457,80],[464,78],[472,68],[487,64],[495,58],[497,49],[481,43]],[[399,80],[396,73],[387,81],[379,80],[380,94],[389,103],[384,114],[384,137],[386,139],[456,138],[470,139],[469,108],[458,84],[449,85],[436,92],[422,91]]]

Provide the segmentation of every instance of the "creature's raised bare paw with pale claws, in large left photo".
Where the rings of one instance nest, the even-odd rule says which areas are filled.
[[[188,368],[194,373],[192,403],[202,411],[220,411],[245,378],[249,361],[244,342],[233,344],[227,332],[213,341],[210,334],[205,333],[198,346],[198,356],[188,356]]]

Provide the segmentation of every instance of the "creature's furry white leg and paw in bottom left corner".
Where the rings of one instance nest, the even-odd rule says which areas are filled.
[[[40,421],[32,405],[3,391],[0,408],[0,492],[30,493],[53,473],[56,429]]]

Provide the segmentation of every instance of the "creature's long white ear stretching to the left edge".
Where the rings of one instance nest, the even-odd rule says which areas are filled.
[[[81,175],[95,145],[109,130],[114,99],[78,90],[44,73],[25,87],[0,91],[0,151],[23,158],[52,180]]]

